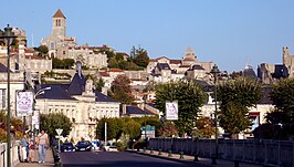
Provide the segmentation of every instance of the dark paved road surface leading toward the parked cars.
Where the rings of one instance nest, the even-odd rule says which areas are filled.
[[[63,167],[188,167],[189,165],[127,152],[75,152],[61,153]]]

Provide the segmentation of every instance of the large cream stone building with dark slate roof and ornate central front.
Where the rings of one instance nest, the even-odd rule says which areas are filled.
[[[98,119],[119,117],[120,103],[93,88],[93,81],[86,81],[81,71],[75,73],[70,84],[41,85],[44,87],[51,90],[36,96],[40,113],[65,114],[73,122],[69,140],[73,138],[76,142],[81,137],[93,140]]]

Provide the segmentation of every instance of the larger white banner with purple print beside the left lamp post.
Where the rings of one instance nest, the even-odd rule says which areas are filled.
[[[33,114],[33,92],[17,92],[17,116]]]

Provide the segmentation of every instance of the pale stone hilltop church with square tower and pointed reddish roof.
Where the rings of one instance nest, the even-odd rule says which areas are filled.
[[[66,18],[60,9],[52,17],[52,33],[41,44],[49,48],[50,58],[73,59],[90,69],[107,67],[107,55],[103,51],[111,49],[107,45],[77,45],[75,38],[66,36]]]

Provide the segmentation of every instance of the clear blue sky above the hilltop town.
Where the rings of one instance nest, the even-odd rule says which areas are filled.
[[[29,46],[51,34],[61,9],[77,44],[126,53],[140,46],[151,59],[180,60],[190,46],[200,62],[233,72],[282,64],[283,46],[294,53],[293,0],[9,0],[1,7],[0,29],[25,30]]]

